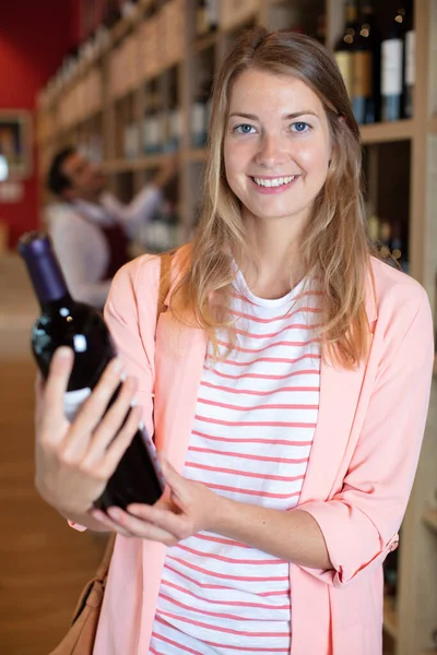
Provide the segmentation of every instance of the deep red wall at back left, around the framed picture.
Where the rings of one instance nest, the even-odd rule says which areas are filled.
[[[0,109],[35,109],[36,94],[78,41],[79,0],[9,0],[0,17]],[[34,126],[35,127],[35,126]],[[33,130],[35,134],[35,130]],[[38,225],[36,152],[33,174],[24,180],[23,201],[0,202],[10,246]]]

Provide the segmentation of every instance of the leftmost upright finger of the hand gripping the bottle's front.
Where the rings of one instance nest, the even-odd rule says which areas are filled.
[[[42,433],[55,432],[63,420],[63,394],[73,368],[74,354],[71,348],[61,346],[55,352],[43,397]]]

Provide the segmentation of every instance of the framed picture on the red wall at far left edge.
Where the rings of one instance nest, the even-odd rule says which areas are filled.
[[[23,179],[32,174],[32,114],[0,110],[0,157],[8,167],[8,179]]]

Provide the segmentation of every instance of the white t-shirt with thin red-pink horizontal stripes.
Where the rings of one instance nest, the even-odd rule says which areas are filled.
[[[296,507],[319,408],[319,294],[257,298],[238,273],[237,343],[209,346],[184,475],[239,502]],[[228,340],[218,334],[221,353]],[[290,653],[288,563],[201,532],[168,548],[152,655]]]

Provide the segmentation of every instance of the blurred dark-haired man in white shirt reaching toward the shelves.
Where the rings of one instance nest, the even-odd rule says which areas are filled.
[[[103,308],[111,278],[129,259],[128,241],[153,218],[176,170],[177,160],[169,156],[125,205],[105,191],[103,172],[78,148],[66,147],[54,157],[47,187],[60,202],[47,210],[48,231],[76,300]]]

